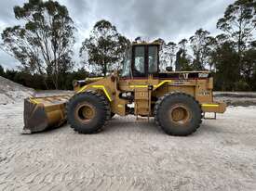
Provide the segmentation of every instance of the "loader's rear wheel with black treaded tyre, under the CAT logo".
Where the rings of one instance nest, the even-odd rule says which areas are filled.
[[[202,109],[193,96],[170,93],[155,104],[155,123],[169,135],[195,133],[202,122]]]

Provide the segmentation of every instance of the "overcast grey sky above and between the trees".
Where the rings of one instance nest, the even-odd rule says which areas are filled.
[[[28,1],[28,0],[27,0]],[[58,0],[68,7],[74,19],[76,43],[74,59],[96,21],[107,19],[118,32],[134,40],[142,36],[148,40],[163,38],[179,42],[189,38],[199,28],[212,35],[219,33],[217,20],[225,8],[235,0]],[[0,1],[0,32],[6,27],[20,24],[15,19],[13,6],[22,6],[25,0]],[[1,41],[0,41],[1,42]],[[0,50],[0,64],[15,69],[19,62]]]

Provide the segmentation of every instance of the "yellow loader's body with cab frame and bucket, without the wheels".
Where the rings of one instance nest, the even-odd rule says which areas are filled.
[[[136,57],[136,48],[146,52]],[[154,49],[155,48],[155,49]],[[155,51],[155,56],[150,53]],[[151,51],[151,52],[150,52]],[[141,117],[154,117],[155,102],[168,93],[180,92],[193,96],[204,113],[223,113],[224,103],[213,100],[213,78],[209,71],[159,71],[159,45],[132,45],[132,57],[128,74],[113,72],[105,78],[88,78],[74,82],[75,94],[89,90],[99,92],[108,100],[111,112],[120,116],[133,114]],[[142,58],[142,59],[141,59]],[[144,58],[144,59],[143,59]],[[145,70],[135,71],[138,60]],[[150,72],[155,63],[155,72]],[[65,105],[69,96],[31,97],[24,102],[24,132],[41,132],[50,127],[61,126],[66,121]],[[129,107],[133,105],[134,107]]]

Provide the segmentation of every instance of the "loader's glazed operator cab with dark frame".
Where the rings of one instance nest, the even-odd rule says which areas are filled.
[[[133,44],[122,72],[124,78],[147,78],[159,72],[159,44]]]

